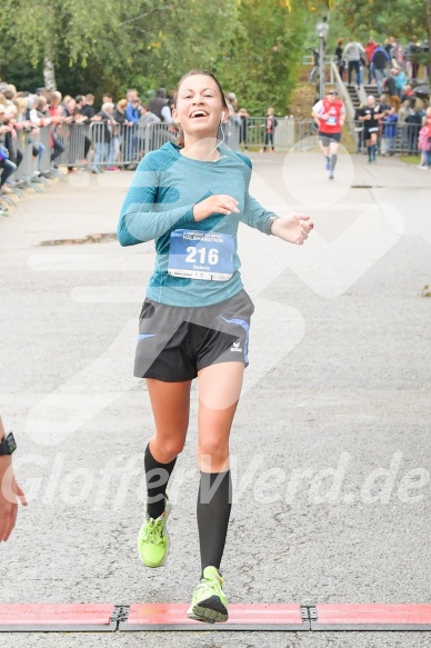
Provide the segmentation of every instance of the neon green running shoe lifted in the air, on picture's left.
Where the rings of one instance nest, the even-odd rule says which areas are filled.
[[[161,567],[169,554],[169,536],[167,521],[171,512],[168,492],[166,494],[164,511],[156,520],[144,514],[143,524],[138,536],[138,552],[147,567]]]

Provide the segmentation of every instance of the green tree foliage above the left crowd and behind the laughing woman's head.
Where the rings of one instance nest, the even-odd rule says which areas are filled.
[[[143,98],[192,68],[217,73],[251,112],[283,113],[305,33],[303,3],[279,0],[3,0],[2,79],[34,90],[48,58],[76,94]]]

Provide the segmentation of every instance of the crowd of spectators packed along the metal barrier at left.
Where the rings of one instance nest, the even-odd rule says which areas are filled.
[[[163,88],[148,103],[141,101],[137,90],[130,89],[126,97],[117,101],[107,92],[96,109],[91,93],[71,97],[46,88],[39,88],[36,93],[18,92],[14,86],[0,83],[0,192],[6,195],[12,191],[8,180],[22,162],[23,138],[26,144],[32,143],[37,175],[41,172],[38,161],[47,147],[50,149],[50,168],[54,170],[58,167],[66,143],[71,139],[71,129],[76,126],[81,127],[82,149],[80,159],[76,156],[70,159],[69,172],[76,170],[77,163],[88,165],[93,173],[100,172],[101,165],[107,171],[118,171],[120,157],[128,159],[132,167],[138,140],[144,137],[146,127],[154,122],[172,124],[171,101]],[[98,124],[97,137],[91,137],[93,124]],[[130,137],[124,136],[128,128]],[[44,143],[38,137],[41,129],[49,132]]]

